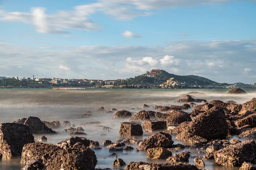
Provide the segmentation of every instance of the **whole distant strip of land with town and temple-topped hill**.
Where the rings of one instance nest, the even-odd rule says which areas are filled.
[[[153,69],[134,78],[116,80],[0,77],[0,88],[256,88],[256,83],[218,83],[200,76],[179,76]]]

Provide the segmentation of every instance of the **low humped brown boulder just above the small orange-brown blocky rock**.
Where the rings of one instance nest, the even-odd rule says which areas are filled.
[[[152,147],[171,148],[173,144],[172,136],[169,133],[154,133],[139,143],[138,150],[146,150]]]

